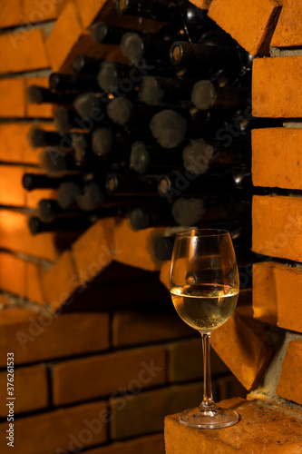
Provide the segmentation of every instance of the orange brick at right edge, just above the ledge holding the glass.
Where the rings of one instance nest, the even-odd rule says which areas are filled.
[[[302,405],[302,340],[288,344],[278,382],[278,396]]]

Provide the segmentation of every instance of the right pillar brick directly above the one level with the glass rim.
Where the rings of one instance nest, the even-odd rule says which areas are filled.
[[[298,128],[254,129],[253,184],[301,190],[301,141],[302,130]]]

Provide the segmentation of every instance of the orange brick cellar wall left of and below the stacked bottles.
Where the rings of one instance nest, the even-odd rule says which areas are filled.
[[[37,203],[55,199],[56,191],[22,186],[24,173],[43,172],[41,150],[30,147],[27,134],[33,125],[54,130],[54,107],[30,104],[26,89],[46,87],[52,71],[70,73],[76,54],[123,61],[116,47],[96,45],[87,33],[101,9],[100,1],[1,5],[3,453],[11,449],[5,439],[7,352],[15,356],[15,452],[160,454],[164,416],[201,397],[200,339],[170,307],[170,263],[155,261],[149,248],[162,229],[133,232],[127,222],[107,219],[80,236],[33,237],[28,230]],[[240,298],[250,304],[250,290]],[[255,358],[253,367],[246,388],[258,380],[263,360]],[[217,399],[246,395],[215,352],[212,374]]]

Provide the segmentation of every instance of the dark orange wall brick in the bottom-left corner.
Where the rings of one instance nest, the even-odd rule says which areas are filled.
[[[22,452],[26,446],[31,454],[71,452],[104,443],[106,416],[106,403],[98,401],[15,420],[15,451]],[[2,452],[9,453],[12,448],[6,445],[7,422],[0,424],[0,429]]]

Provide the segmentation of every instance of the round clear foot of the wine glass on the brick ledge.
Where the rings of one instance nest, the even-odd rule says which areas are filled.
[[[180,422],[196,429],[220,429],[239,421],[239,414],[231,409],[202,410],[200,407],[184,410],[180,413]]]

